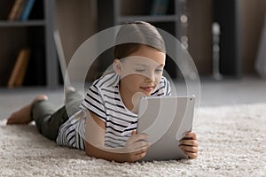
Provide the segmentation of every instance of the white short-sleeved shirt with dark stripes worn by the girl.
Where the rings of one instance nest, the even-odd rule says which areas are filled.
[[[133,130],[137,129],[137,114],[130,112],[119,93],[120,76],[110,73],[94,81],[84,101],[81,111],[76,112],[59,128],[57,143],[84,150],[85,119],[82,110],[89,110],[106,123],[105,145],[109,148],[123,147]],[[169,96],[169,82],[162,77],[151,96]]]

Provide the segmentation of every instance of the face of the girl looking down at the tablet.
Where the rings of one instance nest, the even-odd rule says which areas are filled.
[[[128,58],[115,59],[113,68],[121,75],[122,99],[132,99],[135,94],[150,96],[160,82],[165,58],[165,53],[144,45]]]

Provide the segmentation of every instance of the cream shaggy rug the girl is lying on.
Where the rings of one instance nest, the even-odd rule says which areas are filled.
[[[1,121],[0,176],[266,176],[266,104],[200,108],[194,131],[197,159],[119,164]]]

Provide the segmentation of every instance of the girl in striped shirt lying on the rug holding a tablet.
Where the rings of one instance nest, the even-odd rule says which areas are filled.
[[[162,76],[165,44],[157,29],[143,21],[122,26],[115,44],[113,73],[94,81],[83,101],[69,88],[68,106],[55,112],[47,96],[36,96],[32,104],[13,113],[7,124],[35,120],[40,133],[59,145],[85,150],[90,157],[117,162],[144,158],[150,144],[148,135],[136,132],[137,104],[141,96],[170,95],[169,83]],[[195,133],[187,133],[180,144],[189,158],[197,157]]]

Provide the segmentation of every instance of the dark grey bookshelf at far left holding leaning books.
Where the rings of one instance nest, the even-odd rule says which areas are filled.
[[[59,68],[53,40],[55,3],[35,0],[28,19],[9,20],[9,13],[16,0],[0,1],[0,87],[7,87],[17,56],[28,47],[31,55],[23,86],[59,85]]]

